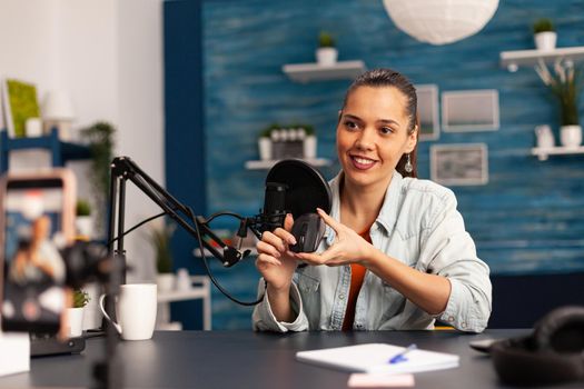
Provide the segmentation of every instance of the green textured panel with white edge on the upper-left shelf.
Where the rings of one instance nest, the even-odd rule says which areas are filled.
[[[37,87],[13,79],[6,79],[2,87],[8,134],[23,138],[27,136],[27,119],[40,118]]]

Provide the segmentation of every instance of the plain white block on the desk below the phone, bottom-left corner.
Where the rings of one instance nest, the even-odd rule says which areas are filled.
[[[28,332],[0,332],[0,377],[30,370]]]

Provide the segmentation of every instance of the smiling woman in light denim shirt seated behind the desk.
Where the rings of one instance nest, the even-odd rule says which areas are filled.
[[[254,311],[255,329],[432,329],[435,319],[463,331],[486,327],[488,267],[454,193],[415,178],[416,117],[415,88],[396,71],[372,70],[349,87],[331,212],[318,210],[328,237],[316,252],[294,253],[291,218],[264,233],[257,268],[267,298]]]

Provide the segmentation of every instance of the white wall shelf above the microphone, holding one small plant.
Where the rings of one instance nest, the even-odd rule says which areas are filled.
[[[365,71],[365,63],[360,60],[339,61],[331,66],[318,63],[289,63],[281,70],[293,81],[309,82],[325,80],[354,79]]]

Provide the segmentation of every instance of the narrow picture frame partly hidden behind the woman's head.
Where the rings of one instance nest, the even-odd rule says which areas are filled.
[[[438,86],[428,83],[415,87],[418,99],[418,139],[420,141],[437,140],[441,131],[438,118]]]

